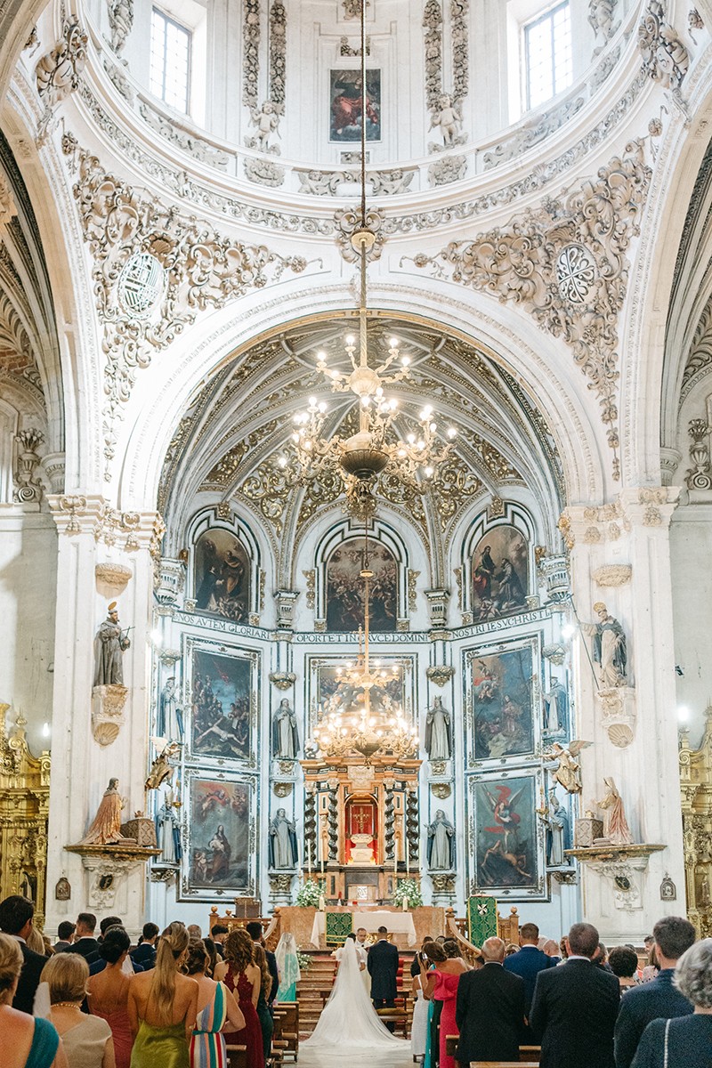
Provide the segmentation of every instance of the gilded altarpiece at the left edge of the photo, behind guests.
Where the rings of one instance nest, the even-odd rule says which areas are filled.
[[[0,704],[0,898],[22,894],[35,905],[35,921],[45,920],[48,752],[30,753],[25,721],[7,731],[10,705]]]

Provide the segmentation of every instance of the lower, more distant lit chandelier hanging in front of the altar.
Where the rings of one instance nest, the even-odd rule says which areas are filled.
[[[400,663],[382,664],[371,661],[369,655],[370,579],[368,564],[368,525],[364,545],[364,625],[359,628],[359,655],[336,669],[337,688],[321,712],[314,729],[314,741],[326,757],[343,757],[355,750],[366,761],[379,751],[394,757],[417,754],[417,726],[404,714],[402,707],[385,692],[378,706],[373,702],[377,688],[384,689],[399,677]],[[346,705],[348,692],[359,694],[355,702]]]

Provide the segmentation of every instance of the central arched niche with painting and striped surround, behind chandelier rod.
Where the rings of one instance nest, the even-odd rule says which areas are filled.
[[[316,547],[315,608],[326,630],[351,633],[364,619],[365,528],[343,520],[329,528]],[[406,613],[408,549],[396,531],[376,520],[368,530],[370,629],[397,629]]]

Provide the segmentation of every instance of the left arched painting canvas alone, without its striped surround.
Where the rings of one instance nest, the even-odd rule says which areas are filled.
[[[246,623],[250,560],[244,546],[222,528],[205,531],[195,545],[195,609]]]

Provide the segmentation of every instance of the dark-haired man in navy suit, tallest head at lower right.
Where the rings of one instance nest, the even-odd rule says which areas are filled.
[[[651,1020],[689,1016],[693,1005],[673,986],[678,957],[695,941],[695,928],[681,916],[665,916],[652,929],[660,972],[650,983],[633,987],[622,1000],[616,1020],[616,1068],[630,1068],[643,1032]]]

